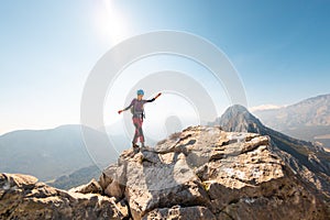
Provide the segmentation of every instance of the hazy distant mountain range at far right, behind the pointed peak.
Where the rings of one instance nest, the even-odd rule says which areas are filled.
[[[253,112],[265,125],[305,141],[330,147],[330,95],[321,95],[279,109]]]

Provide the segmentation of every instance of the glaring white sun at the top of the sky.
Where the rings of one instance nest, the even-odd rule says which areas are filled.
[[[107,44],[117,44],[129,36],[127,16],[113,0],[100,0],[95,18],[99,37]]]

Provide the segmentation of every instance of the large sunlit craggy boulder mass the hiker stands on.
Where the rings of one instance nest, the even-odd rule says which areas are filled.
[[[323,194],[274,148],[256,133],[191,127],[152,148],[124,151],[100,183],[103,190],[116,183],[133,219],[327,219]]]

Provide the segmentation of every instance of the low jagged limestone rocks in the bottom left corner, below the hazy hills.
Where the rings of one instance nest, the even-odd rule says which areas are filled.
[[[123,219],[124,201],[97,194],[67,193],[26,175],[0,174],[0,219]]]

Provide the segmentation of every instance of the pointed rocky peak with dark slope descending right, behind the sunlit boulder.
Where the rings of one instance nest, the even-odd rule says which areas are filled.
[[[330,195],[330,154],[316,143],[287,136],[261,123],[245,107],[235,105],[227,109],[213,123],[224,131],[252,132],[267,135],[274,151],[305,183]]]

